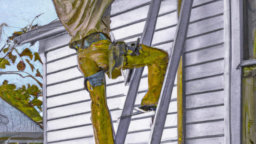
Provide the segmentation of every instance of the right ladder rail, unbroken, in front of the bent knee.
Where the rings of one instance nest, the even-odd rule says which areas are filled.
[[[161,90],[158,106],[156,108],[155,119],[150,132],[149,144],[161,142],[165,120],[168,113],[169,103],[172,96],[175,76],[177,73],[180,56],[185,44],[189,19],[193,0],[182,1],[182,7],[179,15],[175,38],[173,42],[173,52],[169,57],[168,67]]]

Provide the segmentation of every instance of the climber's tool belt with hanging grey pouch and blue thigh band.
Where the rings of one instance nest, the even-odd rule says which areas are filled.
[[[69,47],[75,49],[77,53],[81,52],[83,49],[87,49],[93,43],[100,40],[110,40],[109,36],[104,33],[93,33],[89,36],[74,41],[69,44]],[[109,57],[109,67],[108,71],[99,71],[84,80],[84,88],[88,91],[87,80],[90,84],[94,86],[100,86],[104,84],[104,74],[107,73],[109,78],[116,78],[121,76],[121,69],[123,68],[124,55],[128,51],[128,46],[124,42],[113,42],[109,45],[108,57]]]

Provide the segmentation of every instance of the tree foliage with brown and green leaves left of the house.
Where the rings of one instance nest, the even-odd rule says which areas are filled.
[[[0,76],[15,74],[24,78],[24,85],[22,87],[16,87],[15,84],[9,84],[8,80],[4,80],[0,85],[0,97],[8,102],[10,105],[18,108],[24,114],[29,116],[36,122],[42,121],[37,109],[42,111],[42,75],[39,72],[40,68],[36,68],[34,63],[42,61],[37,52],[32,53],[30,47],[27,47],[19,53],[16,48],[16,44],[13,42],[13,38],[26,33],[27,30],[33,29],[37,25],[28,25],[21,29],[19,32],[14,32],[11,37],[8,38],[7,43],[0,50]],[[31,44],[30,46],[32,46]],[[34,58],[34,60],[33,60]],[[14,71],[6,71],[6,67],[12,67]],[[28,69],[30,72],[27,72]],[[16,70],[15,70],[16,69]],[[26,69],[26,71],[25,71]],[[33,73],[36,70],[36,73]],[[26,84],[26,78],[32,78],[36,81],[37,85]],[[37,108],[37,109],[36,109]]]

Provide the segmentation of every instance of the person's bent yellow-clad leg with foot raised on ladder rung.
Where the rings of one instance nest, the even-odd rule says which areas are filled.
[[[141,105],[157,105],[168,63],[167,52],[142,45],[138,56],[127,55],[123,64],[125,68],[148,66],[148,91],[142,99]]]

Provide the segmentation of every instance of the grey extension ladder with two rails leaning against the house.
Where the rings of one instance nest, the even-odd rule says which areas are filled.
[[[162,0],[151,1],[140,44],[151,46],[161,1]],[[182,1],[180,16],[172,46],[173,50],[172,53],[169,54],[168,67],[166,70],[161,95],[156,108],[156,114],[148,142],[149,144],[157,144],[161,141],[169,102],[174,86],[175,76],[177,73],[180,57],[182,55],[183,46],[186,40],[192,4],[193,0]],[[134,76],[130,82],[126,101],[120,117],[118,130],[116,132],[115,144],[124,144],[125,142],[131,117],[132,115],[134,115],[133,107],[143,70],[144,67],[136,68],[134,71]]]

